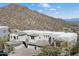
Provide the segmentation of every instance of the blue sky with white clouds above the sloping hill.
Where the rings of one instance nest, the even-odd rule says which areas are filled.
[[[0,3],[0,7],[8,4]],[[79,3],[20,3],[40,13],[62,19],[79,18]]]

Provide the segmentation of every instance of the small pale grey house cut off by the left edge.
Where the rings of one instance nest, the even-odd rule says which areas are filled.
[[[10,34],[9,30],[8,26],[0,26],[0,38],[8,38]]]

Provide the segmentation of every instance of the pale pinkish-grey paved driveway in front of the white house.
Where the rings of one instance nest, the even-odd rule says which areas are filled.
[[[22,44],[15,48],[14,53],[10,53],[9,56],[32,56],[36,54],[36,50],[33,47],[25,48]]]

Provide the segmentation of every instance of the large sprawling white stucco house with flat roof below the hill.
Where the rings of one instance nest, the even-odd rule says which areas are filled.
[[[56,40],[75,44],[77,42],[77,33],[24,30],[10,34],[10,41],[25,41],[29,45],[43,46],[52,44]]]

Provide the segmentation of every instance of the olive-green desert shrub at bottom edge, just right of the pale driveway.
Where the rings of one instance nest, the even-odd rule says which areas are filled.
[[[58,47],[44,46],[38,53],[39,56],[57,56],[61,53],[61,49]]]

